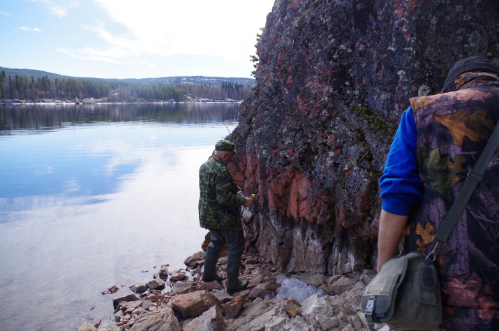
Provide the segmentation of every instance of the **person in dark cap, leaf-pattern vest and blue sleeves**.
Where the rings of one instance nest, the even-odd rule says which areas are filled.
[[[410,99],[380,178],[379,272],[403,253],[429,253],[433,237],[499,119],[499,69],[467,57],[439,94]],[[499,330],[499,149],[435,252],[445,330]],[[401,244],[402,243],[402,244]]]

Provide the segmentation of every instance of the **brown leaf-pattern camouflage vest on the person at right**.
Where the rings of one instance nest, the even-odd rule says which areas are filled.
[[[410,100],[417,127],[422,203],[405,252],[429,253],[433,237],[499,118],[499,78],[465,73],[435,96]],[[499,330],[499,149],[468,205],[436,251],[449,330]]]

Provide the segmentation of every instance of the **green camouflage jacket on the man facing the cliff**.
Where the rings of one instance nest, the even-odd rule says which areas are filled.
[[[211,156],[200,168],[200,226],[207,229],[242,229],[239,207],[244,197],[218,156]]]

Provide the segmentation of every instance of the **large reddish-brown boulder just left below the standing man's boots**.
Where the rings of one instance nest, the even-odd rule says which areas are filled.
[[[172,308],[185,318],[198,317],[213,306],[220,306],[218,299],[207,290],[175,295]]]

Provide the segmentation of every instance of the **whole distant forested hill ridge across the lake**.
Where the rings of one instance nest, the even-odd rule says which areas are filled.
[[[180,101],[190,98],[242,100],[252,78],[81,78],[31,69],[0,67],[0,99],[107,98],[107,101]]]

